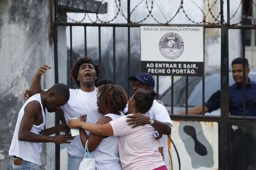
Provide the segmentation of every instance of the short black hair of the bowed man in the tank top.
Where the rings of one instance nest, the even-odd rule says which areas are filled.
[[[64,98],[66,101],[69,101],[69,87],[67,85],[59,83],[55,84],[48,91],[54,91],[56,95],[61,96]]]

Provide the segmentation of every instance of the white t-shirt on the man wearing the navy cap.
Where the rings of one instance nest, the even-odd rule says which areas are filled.
[[[150,116],[151,118],[161,121],[161,122],[166,122],[173,127],[173,122],[171,122],[171,118],[166,110],[166,108],[158,103],[158,101],[154,100],[153,105],[149,109],[145,115]],[[166,164],[166,167],[169,169],[169,152],[168,152],[168,145],[167,145],[167,135],[163,135],[161,140],[163,142],[163,149],[164,149],[164,162]]]

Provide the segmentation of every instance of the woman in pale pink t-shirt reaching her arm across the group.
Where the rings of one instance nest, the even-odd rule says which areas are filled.
[[[129,113],[146,113],[153,105],[155,92],[137,91],[130,98]],[[119,136],[119,157],[124,170],[158,169],[167,167],[161,157],[158,147],[160,140],[155,140],[154,128],[151,125],[140,125],[130,128],[123,116],[106,124],[81,122],[80,119],[69,120],[70,128],[82,128],[93,134],[102,136]]]

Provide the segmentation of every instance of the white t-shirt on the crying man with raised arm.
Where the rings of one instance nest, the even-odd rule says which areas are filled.
[[[80,116],[87,114],[86,122],[95,123],[102,114],[98,112],[97,107],[97,88],[92,92],[84,92],[81,89],[69,89],[70,98],[66,105],[61,109],[64,111],[65,120],[68,124],[69,119],[79,118]],[[89,134],[86,131],[87,135]],[[80,135],[75,136],[74,140],[70,144],[67,144],[67,153],[72,156],[84,157],[85,148],[82,145]]]

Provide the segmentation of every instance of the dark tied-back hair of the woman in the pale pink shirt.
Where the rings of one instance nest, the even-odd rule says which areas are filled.
[[[156,95],[157,94],[154,91],[146,92],[141,89],[137,90],[133,95],[136,111],[139,113],[148,112],[153,105],[153,101]]]

